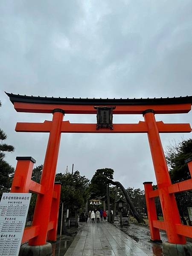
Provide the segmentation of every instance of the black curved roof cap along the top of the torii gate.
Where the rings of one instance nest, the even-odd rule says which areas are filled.
[[[6,92],[5,92],[6,93]],[[140,98],[140,99],[95,99],[95,98],[55,98],[26,96],[13,93],[6,93],[12,103],[26,102],[38,104],[67,104],[67,105],[169,105],[169,104],[192,104],[192,96],[167,97],[167,98]]]

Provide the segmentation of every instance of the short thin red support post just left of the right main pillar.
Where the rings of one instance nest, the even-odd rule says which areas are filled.
[[[153,190],[152,182],[144,182],[145,188],[145,198],[147,205],[147,213],[148,213],[148,223],[150,228],[151,240],[152,241],[160,241],[160,233],[159,229],[153,226],[153,221],[157,220],[157,212],[155,207],[154,198],[149,198],[149,192]]]

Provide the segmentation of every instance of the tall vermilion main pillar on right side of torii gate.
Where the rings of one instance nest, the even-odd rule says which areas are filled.
[[[181,224],[180,215],[175,195],[169,194],[168,191],[168,186],[171,185],[171,179],[169,177],[166,159],[155,121],[154,111],[148,109],[143,112],[143,116],[148,126],[148,141],[157,180],[157,187],[159,189],[159,197],[166,226],[167,238],[170,243],[185,244],[185,237],[178,235],[175,227],[175,224]]]

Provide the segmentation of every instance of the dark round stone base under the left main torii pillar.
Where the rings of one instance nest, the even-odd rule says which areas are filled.
[[[52,256],[52,245],[50,243],[44,245],[22,244],[19,256]]]

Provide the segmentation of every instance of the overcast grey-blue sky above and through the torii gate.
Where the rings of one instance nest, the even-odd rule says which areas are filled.
[[[51,114],[17,113],[4,91],[33,96],[147,98],[192,95],[191,0],[0,1],[0,127],[16,156],[44,162],[48,134],[16,133],[16,122]],[[192,112],[192,111],[191,111]],[[156,115],[187,122],[192,113]],[[95,115],[65,115],[96,123]],[[143,120],[115,115],[113,122]],[[191,134],[161,134],[163,147]],[[68,165],[89,179],[114,169],[114,180],[143,188],[155,182],[147,134],[62,134],[57,172]]]

